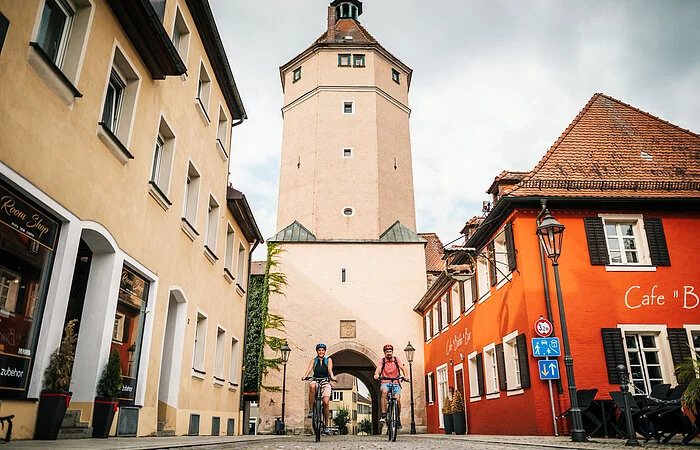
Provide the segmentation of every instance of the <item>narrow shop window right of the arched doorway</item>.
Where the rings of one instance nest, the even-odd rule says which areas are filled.
[[[110,353],[119,352],[122,362],[122,405],[133,405],[143,345],[150,282],[131,268],[122,267],[117,311],[114,315]]]

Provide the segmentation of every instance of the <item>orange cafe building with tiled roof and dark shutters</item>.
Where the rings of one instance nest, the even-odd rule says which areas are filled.
[[[536,236],[543,201],[566,227],[559,272],[577,388],[609,400],[619,364],[637,393],[675,386],[674,366],[700,350],[700,135],[596,94],[531,172],[504,172],[487,192],[493,208],[465,226],[465,251],[446,251],[462,274],[444,270],[415,306],[428,432],[442,432],[449,387],[465,394],[473,434],[552,435],[569,407],[564,358],[550,398],[533,357],[538,318],[561,336]]]

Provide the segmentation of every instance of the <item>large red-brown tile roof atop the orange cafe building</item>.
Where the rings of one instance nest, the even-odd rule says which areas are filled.
[[[700,135],[595,94],[503,196],[698,197]]]

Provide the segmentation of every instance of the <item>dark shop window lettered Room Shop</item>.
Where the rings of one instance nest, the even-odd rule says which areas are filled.
[[[60,225],[1,183],[0,199],[0,398],[26,398]]]

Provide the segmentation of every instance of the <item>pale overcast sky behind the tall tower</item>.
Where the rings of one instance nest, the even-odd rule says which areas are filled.
[[[329,0],[210,0],[249,119],[231,182],[273,236],[279,66],[325,30]],[[367,0],[361,23],[413,69],[418,232],[444,244],[504,169],[531,170],[596,92],[700,132],[700,1]],[[255,259],[264,259],[257,250]]]

